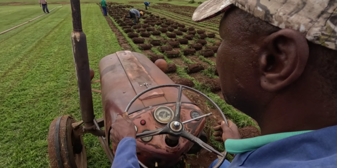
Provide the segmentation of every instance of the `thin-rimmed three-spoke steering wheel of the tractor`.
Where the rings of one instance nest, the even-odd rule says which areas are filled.
[[[176,102],[176,110],[174,112],[174,117],[173,119],[167,123],[167,125],[163,128],[158,128],[155,130],[151,130],[151,131],[146,131],[146,132],[142,132],[142,133],[137,133],[136,138],[142,138],[142,137],[147,137],[147,136],[154,136],[154,135],[160,135],[160,134],[170,134],[173,136],[181,136],[183,138],[188,139],[190,142],[194,143],[194,144],[198,144],[199,146],[203,147],[204,149],[206,149],[209,152],[213,152],[214,154],[221,156],[222,158],[219,159],[218,163],[216,163],[213,168],[218,168],[225,160],[225,157],[227,155],[227,152],[225,151],[224,154],[216,151],[214,148],[212,148],[211,146],[209,146],[208,144],[204,143],[201,139],[199,139],[198,137],[190,134],[189,132],[187,132],[184,128],[184,123],[182,123],[180,121],[180,108],[181,108],[181,96],[182,96],[182,91],[183,90],[189,90],[192,92],[195,92],[201,96],[203,96],[204,98],[206,98],[208,101],[210,101],[215,107],[216,109],[218,109],[221,112],[221,116],[224,119],[224,121],[226,122],[226,124],[228,125],[228,122],[226,120],[226,117],[224,115],[224,113],[222,113],[222,110],[219,108],[218,105],[216,105],[214,103],[214,101],[212,99],[210,99],[209,97],[207,97],[205,94],[201,93],[200,91],[190,88],[190,87],[186,87],[183,85],[177,85],[177,84],[166,84],[166,85],[158,85],[152,88],[149,88],[145,91],[140,92],[138,95],[136,95],[136,97],[134,97],[130,103],[128,104],[128,106],[126,107],[125,111],[128,112],[130,106],[133,104],[133,102],[135,100],[137,100],[141,95],[152,91],[154,89],[158,89],[158,88],[165,88],[165,87],[174,87],[174,88],[179,88],[179,92],[178,92],[178,98],[177,98],[177,102]],[[206,116],[206,115],[204,115]],[[188,120],[188,122],[190,121],[194,121],[197,120],[199,118],[195,118],[192,120]],[[145,166],[144,164],[142,164],[139,160],[138,160],[139,164],[141,166],[143,166],[144,168],[148,168],[147,166]]]

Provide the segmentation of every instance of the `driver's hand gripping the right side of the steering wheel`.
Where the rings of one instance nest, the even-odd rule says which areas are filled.
[[[241,135],[237,129],[237,126],[230,120],[228,120],[228,126],[225,121],[218,121],[219,126],[214,127],[213,135],[215,141],[225,142],[227,139],[241,139]]]

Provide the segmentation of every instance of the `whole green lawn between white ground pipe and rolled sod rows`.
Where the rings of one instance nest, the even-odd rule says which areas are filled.
[[[100,59],[121,47],[97,5],[82,5],[81,11],[95,80]],[[0,167],[49,167],[46,139],[52,120],[68,114],[81,120],[72,29],[67,6],[13,30],[10,37],[0,35]],[[93,93],[93,103],[95,115],[102,117],[100,94]],[[110,167],[97,137],[84,139],[88,167]]]

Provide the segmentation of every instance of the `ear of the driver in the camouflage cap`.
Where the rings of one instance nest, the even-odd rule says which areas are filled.
[[[282,29],[263,40],[259,68],[261,87],[274,92],[297,80],[309,57],[309,46],[302,33]]]

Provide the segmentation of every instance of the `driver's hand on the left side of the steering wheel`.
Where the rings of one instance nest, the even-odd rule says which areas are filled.
[[[125,137],[136,138],[136,129],[133,122],[128,116],[128,112],[122,115],[117,115],[116,121],[112,123],[110,130],[110,138],[116,146]]]

